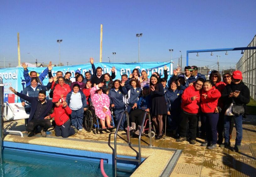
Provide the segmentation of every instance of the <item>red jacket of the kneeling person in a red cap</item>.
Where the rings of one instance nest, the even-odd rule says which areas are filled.
[[[50,116],[54,117],[57,126],[62,126],[66,121],[69,120],[69,115],[71,112],[72,110],[68,107],[68,105],[64,108],[61,104],[58,107],[54,107],[53,113],[50,114]]]

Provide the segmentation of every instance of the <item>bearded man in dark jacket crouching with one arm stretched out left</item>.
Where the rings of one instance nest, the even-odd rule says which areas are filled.
[[[41,133],[43,137],[46,137],[46,131],[51,127],[51,122],[49,119],[44,119],[48,112],[52,109],[52,101],[46,100],[46,91],[40,90],[37,97],[29,97],[25,94],[21,94],[15,91],[14,88],[9,88],[14,94],[18,95],[20,98],[25,99],[31,103],[31,111],[29,115],[28,124],[26,126],[26,131],[30,132],[28,137],[35,136],[35,131],[38,126],[42,128]]]

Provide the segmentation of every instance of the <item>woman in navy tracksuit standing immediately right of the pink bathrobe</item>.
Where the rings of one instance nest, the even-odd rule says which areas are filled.
[[[115,80],[114,81],[114,87],[110,89],[108,96],[110,99],[110,105],[114,109],[114,114],[115,114],[115,120],[116,122],[119,122],[121,119],[122,112],[125,110],[125,95],[127,94],[126,89],[122,89],[124,87],[125,82],[123,81],[121,83],[120,80]],[[125,87],[124,87],[125,88]],[[120,130],[118,131],[123,131],[124,130],[124,123],[125,123],[125,115],[123,115],[122,122],[120,124]]]

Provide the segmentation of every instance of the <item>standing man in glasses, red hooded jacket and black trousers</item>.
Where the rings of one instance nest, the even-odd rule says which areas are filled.
[[[197,114],[199,113],[201,89],[204,84],[203,78],[197,78],[193,86],[188,87],[182,94],[181,113],[179,123],[179,135],[177,142],[185,141],[187,124],[189,129],[190,144],[196,143]]]

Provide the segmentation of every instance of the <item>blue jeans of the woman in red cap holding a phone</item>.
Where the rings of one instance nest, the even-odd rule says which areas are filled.
[[[225,138],[225,143],[229,142],[229,126],[230,126],[230,121],[231,119],[234,119],[235,122],[235,127],[237,131],[237,137],[236,137],[236,143],[235,145],[241,145],[242,141],[242,135],[243,135],[243,129],[242,129],[242,115],[233,115],[233,116],[224,116],[224,138]]]

